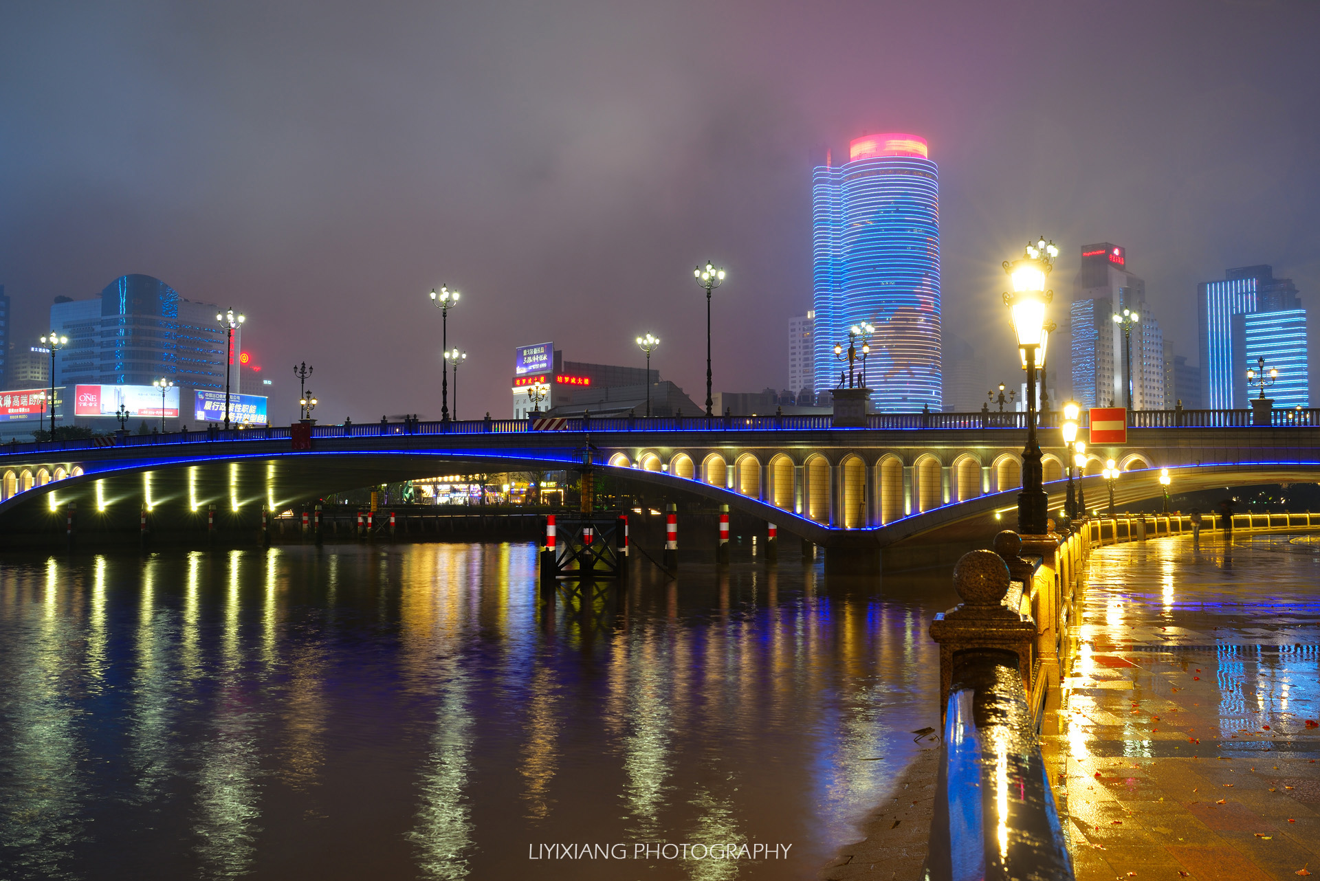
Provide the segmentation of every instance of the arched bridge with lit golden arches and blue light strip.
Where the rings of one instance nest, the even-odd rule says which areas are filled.
[[[1206,413],[1206,411],[1201,411]],[[1212,411],[1236,414],[1243,411]],[[1175,491],[1320,479],[1312,414],[1279,425],[1160,425],[1129,429],[1129,442],[1088,450],[1081,481],[1090,508],[1107,502],[1105,459],[1126,472],[1122,502],[1159,495],[1160,468]],[[1143,414],[1134,414],[1142,417]],[[622,480],[701,496],[775,522],[826,547],[983,537],[1011,520],[1020,487],[1023,414],[883,414],[865,429],[828,417],[557,421],[414,426],[317,426],[310,450],[290,429],[127,435],[0,447],[0,526],[22,532],[69,504],[186,517],[215,505],[226,516],[284,509],[359,487],[471,471],[533,471],[593,464]],[[1055,414],[1040,430],[1051,509],[1065,481]],[[1185,414],[1179,421],[1188,419]],[[1208,419],[1201,419],[1208,421]],[[160,516],[156,513],[156,516]]]

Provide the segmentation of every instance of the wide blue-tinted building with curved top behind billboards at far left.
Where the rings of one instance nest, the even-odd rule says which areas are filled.
[[[50,326],[69,338],[55,355],[57,379],[62,385],[150,385],[164,377],[180,386],[224,390],[226,334],[216,311],[150,276],[121,276],[92,299],[57,297]],[[234,393],[240,334],[234,332]]]

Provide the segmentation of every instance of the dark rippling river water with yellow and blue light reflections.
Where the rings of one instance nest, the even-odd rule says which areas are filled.
[[[524,543],[11,555],[0,877],[813,877],[956,597],[785,557],[583,608]]]

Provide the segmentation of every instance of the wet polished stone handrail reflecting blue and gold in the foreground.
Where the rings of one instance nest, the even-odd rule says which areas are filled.
[[[931,822],[931,881],[1071,881],[1072,860],[1018,658],[954,658]]]

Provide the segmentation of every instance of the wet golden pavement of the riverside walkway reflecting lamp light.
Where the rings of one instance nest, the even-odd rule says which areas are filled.
[[[1320,873],[1320,543],[1096,551],[1045,754],[1078,881]]]

